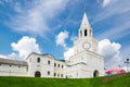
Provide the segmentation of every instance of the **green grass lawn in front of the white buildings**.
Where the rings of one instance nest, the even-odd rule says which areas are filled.
[[[130,74],[75,79],[0,76],[0,87],[130,87]]]

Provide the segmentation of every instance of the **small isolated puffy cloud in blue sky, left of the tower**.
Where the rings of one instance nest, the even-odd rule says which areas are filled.
[[[56,37],[55,37],[55,42],[56,45],[60,45],[60,46],[63,46],[65,49],[67,48],[66,47],[66,44],[65,44],[65,40],[68,38],[68,32],[64,30],[64,32],[61,32]]]

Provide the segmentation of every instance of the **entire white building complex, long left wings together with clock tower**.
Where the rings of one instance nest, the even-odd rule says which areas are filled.
[[[0,59],[1,76],[86,78],[104,75],[104,58],[98,53],[98,40],[84,12],[74,42],[75,54],[67,61],[51,54],[30,53],[26,61]]]

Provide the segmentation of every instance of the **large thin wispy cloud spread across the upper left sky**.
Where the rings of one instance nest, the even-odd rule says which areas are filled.
[[[49,23],[66,5],[67,0],[32,0],[25,5],[16,2],[13,7],[17,15],[11,16],[8,25],[17,32],[24,32],[43,36],[44,32],[51,32]]]

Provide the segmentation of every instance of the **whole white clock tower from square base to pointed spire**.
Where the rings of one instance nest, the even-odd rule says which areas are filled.
[[[74,44],[74,55],[67,62],[67,76],[86,78],[104,75],[104,58],[98,54],[98,41],[93,38],[86,11],[78,32],[78,39]]]

